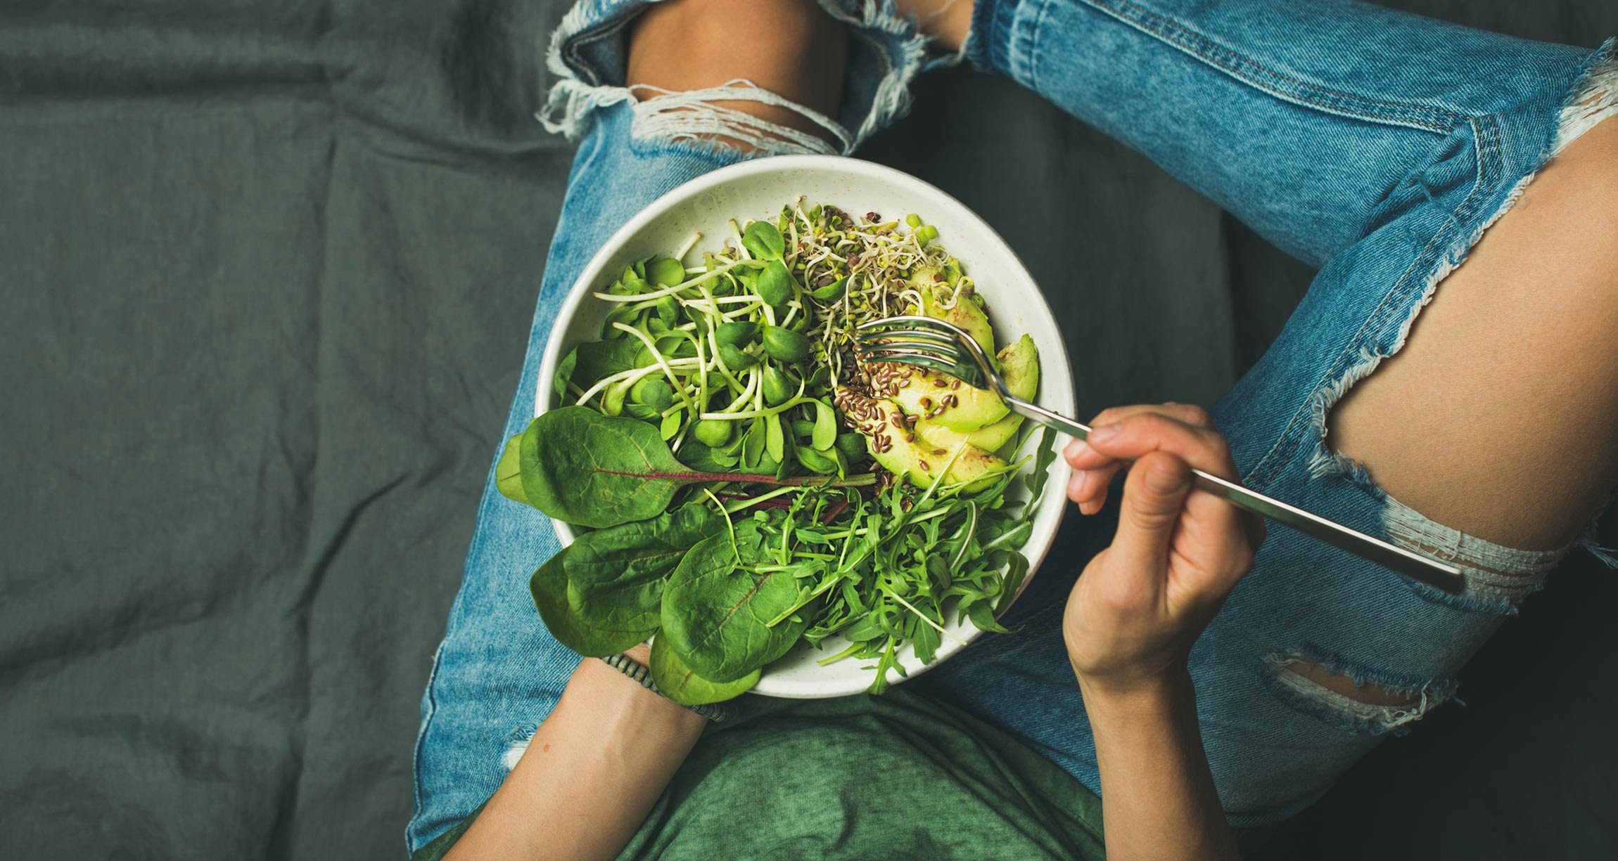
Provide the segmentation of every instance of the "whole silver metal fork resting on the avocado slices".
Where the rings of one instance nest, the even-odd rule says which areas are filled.
[[[858,328],[856,355],[864,362],[900,362],[932,368],[959,378],[968,386],[993,391],[1011,412],[1057,428],[1078,439],[1089,436],[1091,428],[1071,418],[1013,397],[1005,378],[989,360],[989,354],[959,326],[932,317],[888,317],[872,320]],[[1421,580],[1429,586],[1459,594],[1466,586],[1461,570],[1455,565],[1429,559],[1419,552],[1372,538],[1317,514],[1251,491],[1228,478],[1191,470],[1197,489],[1228,499],[1241,509],[1262,514],[1277,523],[1285,523],[1327,544],[1369,559],[1391,572]]]

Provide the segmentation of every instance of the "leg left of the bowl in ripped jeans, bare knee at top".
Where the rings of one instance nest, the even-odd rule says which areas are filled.
[[[908,34],[866,32],[864,21],[853,23],[864,65],[849,68],[880,66],[882,76],[862,73],[843,86],[841,65],[804,63],[804,50],[820,60],[825,50],[835,52],[845,29],[807,0],[681,0],[637,19],[644,8],[641,2],[581,3],[552,45],[552,71],[561,81],[544,118],[581,141],[500,441],[532,418],[540,355],[557,312],[620,225],[675,186],[748,157],[846,150],[869,116],[879,118],[874,124],[892,116],[893,100],[879,105],[870,94],[903,90],[917,71],[898,61]],[[701,47],[701,39],[730,29],[705,26],[709,15],[769,18],[756,39],[760,50],[641,50],[646,44]],[[696,45],[693,26],[699,27]],[[762,50],[770,39],[780,44]],[[879,61],[872,52],[892,57]],[[735,79],[748,82],[728,86]],[[837,102],[849,92],[867,99],[862,113],[858,103]],[[838,115],[853,116],[853,129],[832,118]],[[550,522],[502,498],[490,473],[461,591],[422,696],[416,813],[406,835],[413,851],[493,793],[513,746],[544,720],[578,666],[579,657],[545,632],[527,590],[529,573],[558,549]]]

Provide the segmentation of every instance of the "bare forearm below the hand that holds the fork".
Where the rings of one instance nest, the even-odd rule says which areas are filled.
[[[1107,858],[1235,859],[1202,751],[1189,675],[1129,691],[1086,685],[1102,777]]]

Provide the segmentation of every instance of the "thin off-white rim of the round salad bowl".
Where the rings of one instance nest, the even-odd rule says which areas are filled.
[[[602,242],[600,249],[597,249],[597,252],[591,257],[591,260],[584,265],[584,268],[579,270],[578,278],[568,288],[568,294],[563,299],[561,307],[557,309],[557,315],[552,320],[552,328],[545,339],[545,351],[542,354],[539,365],[539,380],[536,381],[534,415],[537,417],[553,409],[550,407],[550,394],[552,394],[550,381],[555,378],[557,365],[561,362],[563,341],[570,321],[579,313],[579,309],[582,307],[584,300],[591,296],[591,292],[594,292],[592,284],[600,281],[602,273],[607,268],[607,263],[612,262],[612,258],[623,250],[623,247],[629,242],[629,239],[636,233],[644,229],[652,221],[662,218],[673,207],[696,197],[697,194],[707,189],[725,186],[752,174],[770,174],[790,170],[820,170],[820,171],[832,170],[837,173],[846,173],[854,179],[872,179],[875,183],[909,186],[922,195],[937,199],[940,205],[953,210],[951,216],[966,221],[968,229],[981,234],[984,237],[982,239],[984,242],[997,246],[1000,250],[1003,250],[1011,268],[1008,271],[997,273],[997,276],[1005,281],[1021,279],[1026,284],[1032,286],[1034,288],[1032,300],[1037,302],[1037,307],[1032,309],[1032,315],[1050,320],[1052,326],[1057,328],[1055,313],[1050,310],[1050,304],[1045,300],[1044,291],[1039,289],[1039,283],[1034,281],[1032,273],[1027,271],[1027,267],[1023,263],[1023,258],[1018,257],[1016,250],[1011,249],[1011,246],[1005,241],[1005,237],[1000,236],[1000,233],[995,231],[987,221],[984,221],[984,218],[977,215],[971,207],[959,202],[951,194],[934,186],[932,183],[927,183],[925,179],[921,179],[917,176],[911,176],[901,170],[890,168],[887,165],[879,165],[875,162],[851,158],[845,155],[772,155],[772,157],[751,158],[746,162],[712,170],[709,173],[688,179],[680,186],[675,186],[673,189],[663,192],[655,200],[647,204],[644,208],[641,208],[641,212],[634,213],[628,221],[623,223],[623,226],[613,231],[613,234],[608,236],[605,242]],[[1071,365],[1068,363],[1066,341],[1061,339],[1060,336],[1055,339],[1055,355],[1050,355],[1050,351],[1045,349],[1045,344],[1040,344],[1040,352],[1042,352],[1040,401],[1045,401],[1047,405],[1050,404],[1050,401],[1057,401],[1057,404],[1052,409],[1057,409],[1060,412],[1063,407],[1066,407],[1071,412],[1074,409],[1076,397],[1073,389],[1074,381],[1073,381]],[[1047,383],[1050,381],[1052,376],[1048,372],[1045,372],[1045,368],[1048,367],[1060,368],[1061,381],[1066,383],[1063,391],[1060,393],[1047,391]],[[1052,394],[1055,394],[1055,397],[1052,397]],[[1018,593],[1013,596],[1011,603],[1006,604],[1006,607],[1021,599],[1023,593],[1027,590],[1027,585],[1034,580],[1034,575],[1039,572],[1045,557],[1050,554],[1052,546],[1055,544],[1057,531],[1060,530],[1061,520],[1066,514],[1066,494],[1063,493],[1063,486],[1066,485],[1066,478],[1071,475],[1071,468],[1066,465],[1066,460],[1060,457],[1060,451],[1058,457],[1052,462],[1050,470],[1052,473],[1047,478],[1045,493],[1039,501],[1039,514],[1036,515],[1034,520],[1034,530],[1029,535],[1029,541],[1021,548],[1029,564],[1027,575],[1023,578],[1023,585],[1018,588]],[[1055,515],[1050,514],[1050,509],[1055,509]],[[1048,520],[1048,525],[1044,525],[1042,528],[1042,522],[1045,520]],[[576,538],[573,528],[568,523],[563,523],[555,519],[550,519],[550,523],[561,546],[563,548],[570,546]],[[1027,552],[1031,549],[1031,544],[1034,544],[1036,541],[1039,541],[1040,544],[1037,548],[1037,552],[1034,554]],[[916,675],[921,675],[922,672],[927,672],[937,667],[938,664],[943,664],[945,661],[963,651],[966,645],[971,645],[985,633],[971,620],[963,620],[961,625],[956,625],[951,630],[963,641],[958,643],[945,640],[938,646],[937,654],[930,662],[927,664],[916,662],[914,666],[906,666],[908,675],[896,678],[895,683],[903,682],[906,678],[914,678]],[[914,662],[914,654],[911,654],[909,659],[911,662]],[[765,667],[764,677],[760,678],[759,687],[752,690],[752,693],[759,693],[764,696],[790,698],[790,699],[819,699],[819,698],[861,693],[867,687],[864,683],[858,687],[830,685],[830,683],[770,687],[765,683],[769,677],[770,677],[769,667]]]

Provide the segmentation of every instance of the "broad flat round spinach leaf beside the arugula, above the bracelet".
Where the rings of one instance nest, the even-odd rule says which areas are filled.
[[[663,586],[663,638],[712,682],[735,682],[786,654],[807,627],[791,619],[770,627],[798,601],[798,583],[790,572],[751,570],[762,538],[749,540],[743,527],[736,544],[715,535],[691,548]]]

